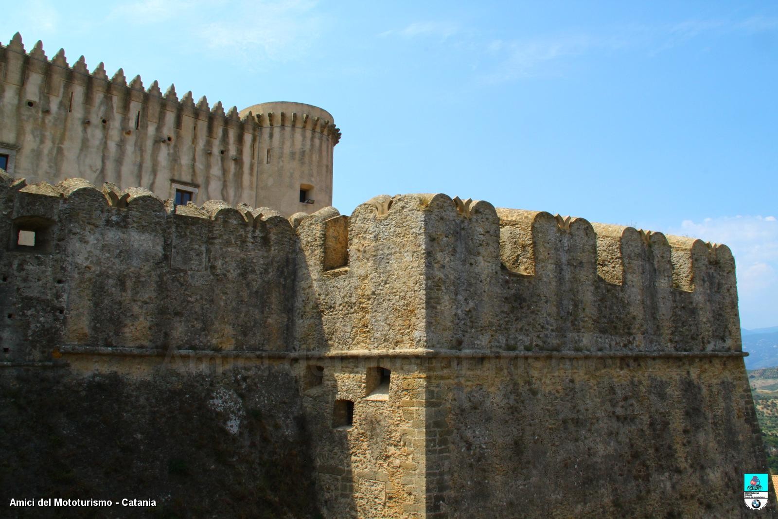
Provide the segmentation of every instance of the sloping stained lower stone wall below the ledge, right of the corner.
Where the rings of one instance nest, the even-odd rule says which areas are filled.
[[[751,517],[739,358],[460,360],[427,387],[431,515]]]

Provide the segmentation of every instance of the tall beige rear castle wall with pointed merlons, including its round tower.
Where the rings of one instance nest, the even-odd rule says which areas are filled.
[[[251,110],[255,110],[252,112]],[[274,112],[275,110],[275,112]],[[17,33],[0,46],[0,153],[18,176],[141,186],[160,198],[176,188],[195,201],[269,205],[287,216],[332,203],[332,149],[340,139],[325,110],[263,103],[238,113],[191,92],[179,99],[120,68],[93,72],[65,51],[26,53]],[[310,187],[312,204],[300,202]]]

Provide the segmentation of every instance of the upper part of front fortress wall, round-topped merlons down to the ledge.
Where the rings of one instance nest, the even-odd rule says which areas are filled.
[[[724,245],[446,195],[287,220],[82,179],[0,193],[14,349],[741,349]]]

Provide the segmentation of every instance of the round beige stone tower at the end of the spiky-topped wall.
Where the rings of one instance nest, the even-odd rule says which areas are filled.
[[[332,149],[340,131],[326,110],[304,103],[261,103],[240,111],[258,122],[254,205],[286,216],[332,205]]]

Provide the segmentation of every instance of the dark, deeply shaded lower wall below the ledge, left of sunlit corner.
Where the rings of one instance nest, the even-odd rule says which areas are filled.
[[[4,517],[316,517],[296,378],[148,359],[70,356],[0,370]],[[11,498],[155,500],[155,507],[9,508]]]

